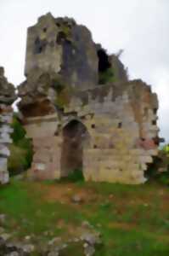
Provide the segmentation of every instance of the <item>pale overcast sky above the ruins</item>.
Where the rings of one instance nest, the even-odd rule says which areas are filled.
[[[25,79],[26,28],[48,12],[86,25],[109,53],[125,50],[131,79],[159,96],[161,137],[169,141],[169,0],[0,0],[0,66],[15,85]]]

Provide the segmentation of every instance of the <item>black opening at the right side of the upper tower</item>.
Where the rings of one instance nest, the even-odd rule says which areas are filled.
[[[99,49],[98,57],[99,57],[99,72],[105,72],[107,69],[111,67],[111,64],[109,61],[109,55],[106,54],[104,49]]]

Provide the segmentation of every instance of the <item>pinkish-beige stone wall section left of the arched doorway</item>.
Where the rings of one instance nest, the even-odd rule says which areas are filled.
[[[26,119],[25,130],[32,138],[34,151],[29,176],[37,179],[60,177],[61,137],[55,136],[58,124],[56,113]]]

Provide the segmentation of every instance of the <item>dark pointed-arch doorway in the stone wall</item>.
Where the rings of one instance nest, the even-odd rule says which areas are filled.
[[[73,172],[82,172],[83,151],[89,142],[87,128],[82,122],[73,119],[63,129],[61,152],[61,177]]]

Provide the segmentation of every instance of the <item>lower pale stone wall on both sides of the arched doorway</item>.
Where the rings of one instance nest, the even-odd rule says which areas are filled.
[[[125,85],[124,91],[120,85]],[[83,148],[86,180],[144,183],[147,164],[158,153],[157,108],[156,95],[136,80],[78,93],[61,115],[28,118],[25,129],[33,137],[35,151],[31,175],[61,177],[63,128],[76,119],[90,136]]]

